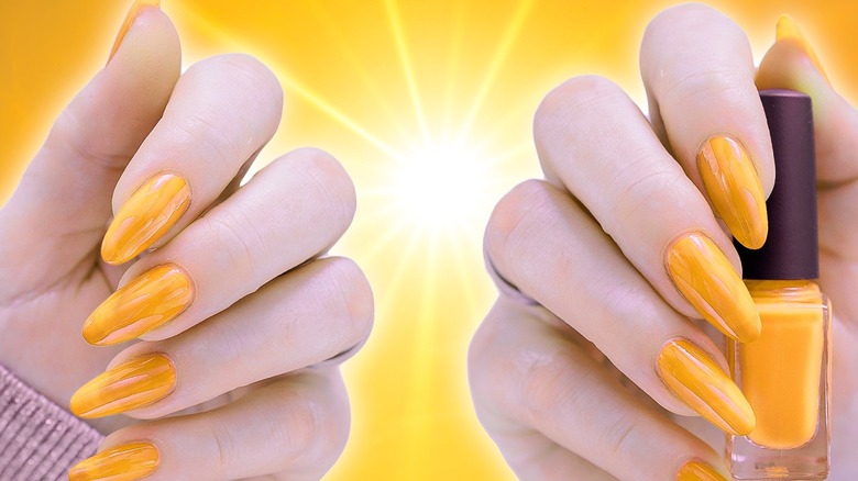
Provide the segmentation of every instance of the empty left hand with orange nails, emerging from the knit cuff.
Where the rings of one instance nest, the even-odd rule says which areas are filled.
[[[138,3],[0,211],[0,362],[119,428],[101,451],[130,476],[318,479],[350,421],[342,357],[324,361],[373,317],[360,268],[318,258],[353,186],[307,148],[240,187],[279,123],[276,78],[245,55],[179,76],[170,21]],[[111,469],[94,459],[73,479]]]

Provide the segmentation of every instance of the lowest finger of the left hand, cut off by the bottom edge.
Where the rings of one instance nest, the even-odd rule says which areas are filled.
[[[342,452],[349,424],[339,370],[306,370],[213,411],[120,429],[69,480],[318,480]]]

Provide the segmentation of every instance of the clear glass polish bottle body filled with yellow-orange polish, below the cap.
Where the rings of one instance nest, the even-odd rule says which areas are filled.
[[[762,328],[755,342],[728,342],[727,354],[732,377],[757,424],[750,434],[728,439],[733,474],[824,479],[831,437],[831,304],[810,280],[745,282]]]

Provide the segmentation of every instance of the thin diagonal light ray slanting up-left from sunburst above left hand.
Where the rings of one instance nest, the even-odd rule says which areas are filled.
[[[179,2],[173,3],[170,8],[172,9],[175,8],[176,10],[180,11],[180,15],[184,16],[186,20],[189,20],[190,23],[193,23],[197,27],[197,30],[201,30],[206,32],[210,37],[216,38],[221,45],[228,46],[229,49],[235,49],[239,52],[244,51],[244,48],[242,48],[242,45],[239,41],[227,35],[224,32],[218,29],[217,25],[215,25],[212,22],[210,22],[209,20],[205,19],[202,15],[195,12],[193,9],[185,7]],[[365,128],[360,126],[356,122],[351,120],[348,115],[337,110],[333,105],[328,103],[320,94],[317,94],[316,92],[314,92],[312,90],[310,90],[309,88],[300,83],[298,80],[286,75],[288,69],[286,69],[284,66],[279,65],[277,61],[274,61],[271,58],[266,58],[266,64],[268,65],[268,68],[271,68],[275,74],[277,74],[277,78],[280,79],[280,82],[285,88],[297,93],[299,97],[310,102],[317,109],[319,109],[330,118],[334,119],[343,126],[354,132],[355,134],[361,136],[363,139],[369,142],[380,150],[391,156],[393,159],[403,161],[402,154],[399,154],[395,148],[387,145],[385,142],[383,142],[375,135],[371,134]]]

